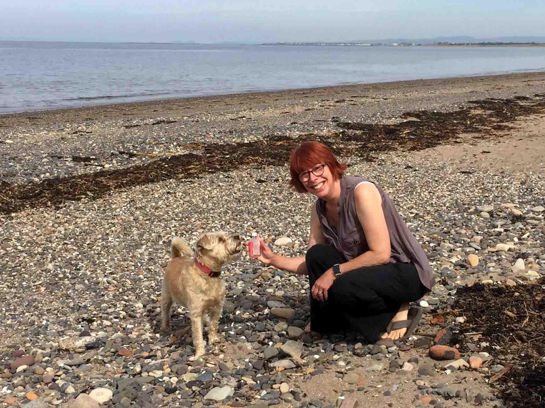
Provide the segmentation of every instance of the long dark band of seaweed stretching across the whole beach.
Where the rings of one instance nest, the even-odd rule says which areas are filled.
[[[39,183],[0,182],[0,214],[27,208],[55,207],[82,197],[98,198],[111,191],[155,183],[171,178],[191,180],[205,173],[229,171],[243,165],[282,166],[293,148],[304,140],[319,140],[336,154],[373,160],[373,153],[417,151],[442,144],[462,143],[459,135],[475,134],[476,139],[493,139],[496,131],[509,128],[519,116],[543,112],[545,94],[533,98],[471,101],[473,107],[455,112],[420,110],[402,115],[407,121],[396,125],[336,121],[339,131],[328,137],[308,133],[292,139],[268,135],[261,141],[239,144],[187,144],[181,147],[202,154],[187,153],[162,157],[144,165],[104,170],[93,174],[54,178]],[[335,119],[333,120],[335,121]]]

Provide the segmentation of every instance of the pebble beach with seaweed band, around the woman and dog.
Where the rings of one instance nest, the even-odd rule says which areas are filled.
[[[224,341],[194,360],[185,308],[159,327],[171,240],[258,232],[304,255],[302,140],[392,197],[437,282],[422,323],[390,347],[305,333],[306,277],[244,254],[222,272]],[[475,282],[545,285],[545,73],[3,115],[0,175],[2,406],[509,406],[490,379],[511,351],[456,341],[452,310]]]

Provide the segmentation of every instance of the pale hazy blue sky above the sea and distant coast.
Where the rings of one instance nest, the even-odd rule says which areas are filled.
[[[202,43],[545,36],[544,0],[0,0],[0,40]]]

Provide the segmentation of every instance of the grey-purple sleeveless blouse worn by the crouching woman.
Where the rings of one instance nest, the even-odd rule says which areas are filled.
[[[341,197],[337,203],[337,211],[340,219],[338,230],[329,225],[325,216],[325,200],[316,200],[316,212],[320,224],[322,224],[322,232],[325,239],[347,261],[369,250],[364,228],[361,226],[358,214],[356,213],[356,202],[354,199],[354,190],[362,181],[368,182],[369,180],[353,176],[341,177]],[[390,262],[413,263],[420,276],[420,281],[426,288],[431,290],[435,285],[435,280],[433,279],[433,271],[429,266],[428,258],[422,246],[416,240],[413,233],[410,232],[409,227],[397,212],[390,197],[384,193],[380,186],[377,186],[377,184],[374,184],[374,186],[377,187],[382,198],[382,209],[390,235]]]

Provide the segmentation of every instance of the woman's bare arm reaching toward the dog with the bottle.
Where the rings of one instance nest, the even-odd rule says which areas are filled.
[[[261,242],[261,256],[256,257],[256,259],[263,262],[265,265],[272,265],[275,268],[294,274],[307,274],[304,256],[290,258],[287,256],[276,255],[274,252],[272,252],[269,246],[263,242],[263,239],[259,238],[259,241]],[[316,208],[314,208],[310,218],[310,236],[308,237],[307,249],[310,249],[312,245],[322,243],[323,241],[324,236],[322,233],[322,226],[320,226]]]

